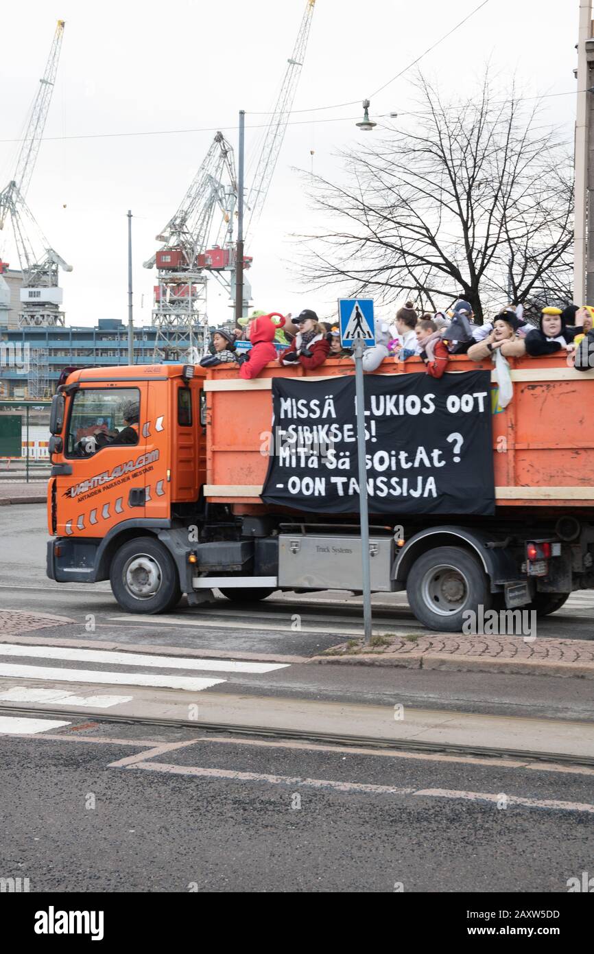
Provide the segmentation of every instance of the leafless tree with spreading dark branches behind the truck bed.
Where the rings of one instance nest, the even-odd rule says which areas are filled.
[[[444,103],[421,75],[408,129],[342,153],[342,184],[305,176],[324,229],[301,236],[302,278],[421,308],[463,297],[478,321],[506,301],[570,300],[572,164],[515,89]]]

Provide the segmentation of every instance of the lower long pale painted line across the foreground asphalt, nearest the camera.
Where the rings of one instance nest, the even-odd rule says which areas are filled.
[[[143,762],[138,758],[146,758],[151,753],[141,753],[139,757],[126,759],[129,764],[120,764],[112,762],[110,768],[126,768],[128,771],[135,769],[145,769],[149,772],[165,772],[170,775],[186,775],[198,778],[225,778],[231,781],[263,781],[272,785],[290,785],[298,788],[317,788],[333,789],[337,792],[343,792],[347,795],[398,795],[411,796],[412,798],[450,798],[453,800],[464,799],[469,801],[489,801],[497,803],[501,798],[491,792],[466,792],[455,789],[441,788],[405,788],[398,785],[371,785],[356,781],[338,781],[334,778],[299,778],[298,776],[276,776],[265,775],[259,772],[239,772],[228,769],[204,769],[195,765],[172,765],[167,762]],[[524,808],[548,808],[562,812],[585,812],[588,815],[594,815],[594,805],[584,801],[557,801],[551,798],[520,798],[519,796],[508,796],[507,805],[521,805]]]

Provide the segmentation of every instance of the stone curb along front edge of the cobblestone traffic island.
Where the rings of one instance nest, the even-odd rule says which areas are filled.
[[[454,673],[503,673],[515,675],[556,675],[578,679],[594,679],[591,663],[563,662],[547,659],[493,659],[491,657],[448,655],[440,653],[408,653],[407,655],[353,654],[313,656],[312,663],[339,666],[382,666],[396,669],[444,670]]]

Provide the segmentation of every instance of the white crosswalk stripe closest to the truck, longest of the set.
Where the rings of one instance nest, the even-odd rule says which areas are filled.
[[[69,659],[77,662],[107,662],[112,666],[206,669],[211,673],[272,673],[276,669],[287,669],[290,665],[286,662],[236,662],[232,659],[194,659],[186,656],[118,653],[115,650],[79,650],[75,647],[28,646],[20,643],[0,643],[0,655]]]

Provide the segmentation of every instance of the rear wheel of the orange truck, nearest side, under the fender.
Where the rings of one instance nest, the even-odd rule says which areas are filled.
[[[438,547],[423,553],[406,581],[412,611],[430,630],[460,633],[462,613],[491,608],[489,579],[478,558],[461,547]]]

